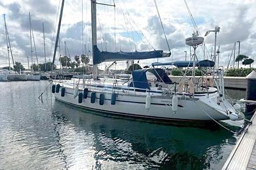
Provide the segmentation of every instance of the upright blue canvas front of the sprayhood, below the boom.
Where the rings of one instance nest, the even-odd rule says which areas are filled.
[[[140,89],[150,89],[149,83],[146,77],[147,70],[133,70],[133,81],[129,84],[129,87],[136,87]]]

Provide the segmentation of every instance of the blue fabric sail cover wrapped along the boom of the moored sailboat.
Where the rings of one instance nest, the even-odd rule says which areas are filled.
[[[93,46],[93,52],[93,64],[99,64],[104,61],[142,60],[166,57],[162,55],[163,50],[154,50],[151,52],[101,52],[97,46]]]

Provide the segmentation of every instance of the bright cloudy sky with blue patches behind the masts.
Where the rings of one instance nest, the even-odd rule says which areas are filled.
[[[91,58],[90,3],[90,0],[65,1],[57,59],[60,55],[66,54],[70,56],[71,61],[74,61],[74,56],[83,53]],[[190,46],[185,44],[185,39],[191,37],[195,31],[191,16],[199,30],[199,36],[204,37],[206,49],[204,50],[204,46],[197,47],[198,60],[204,58],[210,60],[211,54],[214,53],[215,33],[210,32],[207,36],[205,33],[214,30],[216,26],[220,27],[220,32],[216,34],[216,49],[219,47],[220,52],[216,56],[219,58],[219,66],[227,67],[230,60],[229,67],[233,67],[235,42],[235,56],[239,51],[240,54],[256,60],[255,0],[99,0],[98,3],[110,5],[115,3],[115,7],[97,5],[97,39],[100,50],[108,52],[163,50],[172,53],[168,58],[158,60],[135,60],[135,63],[139,62],[142,67],[157,61],[185,60],[186,53],[189,60],[193,48],[190,49]],[[32,63],[37,64],[37,58],[38,63],[44,63],[44,60],[52,61],[60,4],[61,1],[53,0],[0,1],[0,67],[9,66],[4,14],[13,60],[20,62],[27,69]],[[32,25],[32,50],[29,12]],[[43,38],[43,24],[45,38]],[[12,66],[12,58],[10,61]],[[57,67],[60,65],[58,60],[55,64]],[[101,63],[99,67],[104,69],[110,64]],[[236,63],[235,67],[237,67]],[[125,68],[126,62],[123,61],[119,61],[115,66],[115,69]]]

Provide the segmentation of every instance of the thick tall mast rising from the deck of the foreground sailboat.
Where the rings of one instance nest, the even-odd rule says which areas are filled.
[[[91,39],[93,46],[93,58],[94,48],[97,46],[97,33],[96,33],[96,0],[91,0]],[[93,62],[93,79],[96,80],[98,77],[98,64]]]

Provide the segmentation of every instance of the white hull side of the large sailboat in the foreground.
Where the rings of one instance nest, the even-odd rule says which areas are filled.
[[[62,87],[60,87],[62,88]],[[83,90],[80,89],[79,93]],[[78,94],[79,94],[78,93]],[[177,112],[172,111],[172,99],[170,97],[151,96],[149,109],[146,109],[146,95],[117,94],[116,102],[112,104],[112,93],[96,92],[94,103],[91,103],[91,93],[88,97],[82,98],[79,103],[79,95],[74,98],[74,89],[65,87],[65,95],[55,93],[55,98],[63,103],[79,106],[97,112],[104,112],[115,115],[125,115],[130,117],[151,118],[154,120],[183,120],[183,121],[210,121],[229,119],[228,114],[219,112],[218,108],[206,104],[211,98],[178,98]],[[100,102],[100,95],[104,95],[104,101]],[[207,101],[204,101],[207,100]],[[213,101],[213,100],[212,100]],[[101,103],[101,104],[100,104]],[[213,102],[212,102],[213,103]],[[212,104],[213,105],[213,104]],[[218,104],[216,104],[218,106]],[[191,109],[193,108],[193,109]]]

